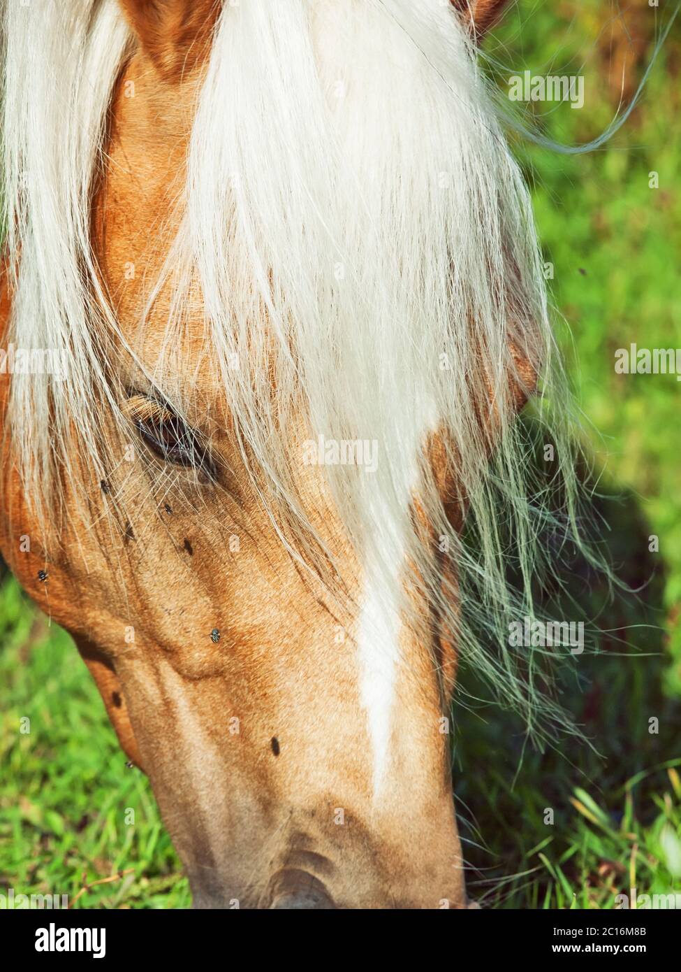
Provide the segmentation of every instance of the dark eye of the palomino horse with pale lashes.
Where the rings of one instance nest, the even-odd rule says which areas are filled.
[[[165,463],[200,469],[213,478],[208,445],[165,403],[136,395],[127,410],[140,437]]]

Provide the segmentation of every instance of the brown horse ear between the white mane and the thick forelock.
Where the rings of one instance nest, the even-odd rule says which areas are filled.
[[[179,81],[210,49],[221,0],[119,0],[165,81]]]

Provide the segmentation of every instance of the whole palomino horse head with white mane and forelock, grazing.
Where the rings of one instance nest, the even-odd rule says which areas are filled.
[[[2,4],[6,340],[62,364],[5,382],[3,551],[198,906],[462,907],[457,658],[561,721],[503,635],[555,355],[500,6]]]

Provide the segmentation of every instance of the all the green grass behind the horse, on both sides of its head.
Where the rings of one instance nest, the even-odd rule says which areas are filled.
[[[581,110],[530,103],[526,120],[584,144],[628,103],[675,6],[520,0],[486,41],[491,73],[502,90],[525,69],[583,74]],[[640,593],[608,603],[597,578],[575,580],[603,634],[562,702],[597,751],[572,741],[537,753],[512,717],[458,713],[461,837],[469,892],[485,907],[606,909],[630,887],[681,892],[681,386],[614,371],[615,349],[632,342],[681,347],[680,74],[681,18],[603,148],[563,156],[512,139],[554,265],[604,540]],[[126,767],[68,636],[11,578],[0,590],[0,704],[0,890],[67,893],[77,908],[187,907],[148,781]],[[23,717],[30,733],[19,732]]]

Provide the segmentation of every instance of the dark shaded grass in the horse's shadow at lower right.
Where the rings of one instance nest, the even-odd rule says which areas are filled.
[[[649,528],[637,503],[632,494],[599,502],[631,588],[655,566],[653,554],[641,554]],[[653,577],[645,597],[610,599],[602,577],[579,560],[572,570],[568,594],[597,617],[598,630],[557,690],[586,741],[568,737],[538,752],[516,716],[479,702],[458,712],[455,790],[468,889],[489,907],[611,909],[630,887],[681,893],[681,708],[665,677],[664,577]],[[569,608],[547,613],[572,616]],[[471,674],[461,679],[476,695]]]

